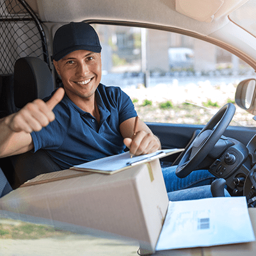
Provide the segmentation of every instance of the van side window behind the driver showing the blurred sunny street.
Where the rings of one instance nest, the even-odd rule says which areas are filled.
[[[102,42],[102,83],[120,86],[145,122],[207,124],[252,67],[216,45],[158,31],[95,24]],[[232,125],[255,126],[236,108]]]

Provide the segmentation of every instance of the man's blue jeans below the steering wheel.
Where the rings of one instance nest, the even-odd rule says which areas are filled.
[[[187,177],[176,176],[177,166],[162,168],[166,191],[170,201],[193,200],[212,197],[211,183],[216,177],[207,170],[196,170]],[[230,196],[225,190],[225,196]]]

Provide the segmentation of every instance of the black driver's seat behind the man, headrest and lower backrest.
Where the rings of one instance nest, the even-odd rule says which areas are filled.
[[[16,61],[13,74],[13,100],[10,114],[15,108],[22,108],[35,99],[44,99],[51,95],[54,83],[51,70],[47,64],[34,57],[20,58]],[[58,164],[52,161],[45,150],[35,153],[27,152],[10,157],[15,181],[13,188],[19,187],[29,179],[39,174],[61,170]]]

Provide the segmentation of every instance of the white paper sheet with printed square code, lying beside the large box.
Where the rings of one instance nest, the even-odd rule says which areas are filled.
[[[170,202],[156,250],[255,241],[246,198]]]

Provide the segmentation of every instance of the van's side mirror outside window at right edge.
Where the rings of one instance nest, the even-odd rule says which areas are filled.
[[[236,104],[252,115],[256,115],[256,80],[246,79],[241,81],[236,89]]]

